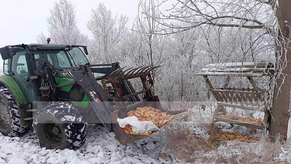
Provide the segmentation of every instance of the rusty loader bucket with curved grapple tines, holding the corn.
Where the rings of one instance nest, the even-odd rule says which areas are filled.
[[[113,71],[106,79],[101,80],[102,85],[104,87],[104,92],[107,98],[117,101],[115,105],[115,111],[111,112],[111,120],[112,120],[112,130],[114,131],[117,140],[121,144],[127,144],[130,142],[141,140],[157,133],[157,131],[154,131],[150,135],[127,134],[123,130],[123,128],[119,126],[117,122],[117,118],[123,119],[127,117],[126,113],[129,112],[130,110],[135,110],[137,107],[153,107],[153,108],[161,110],[162,112],[166,112],[163,110],[158,96],[152,95],[153,81],[152,81],[150,71],[159,67],[161,66],[149,65],[149,66],[140,66],[137,68],[128,68],[128,69],[125,69],[126,67],[123,67],[123,68],[119,68]],[[125,71],[123,71],[123,69],[125,69]],[[118,73],[120,73],[120,75],[118,75]],[[133,78],[141,79],[143,90],[134,91],[131,94],[123,96],[119,84],[122,82],[127,82],[127,84],[130,84],[128,80],[133,79]],[[112,88],[110,89],[108,89],[107,87],[107,84],[109,83],[112,85]],[[132,85],[129,85],[129,86],[132,86]],[[116,91],[116,94],[115,94],[116,96],[114,97],[111,96],[109,94],[110,91]],[[139,94],[144,94],[143,100],[140,100],[140,98],[138,97]],[[132,102],[126,101],[126,99],[130,97],[135,98],[134,100],[137,100],[137,101],[132,101]],[[173,121],[177,119],[179,116],[181,116],[182,114],[184,114],[185,112],[186,112],[185,110],[181,110],[181,111],[167,112],[167,114],[175,116],[175,118],[171,120]],[[169,125],[169,122],[159,129],[161,130],[167,125]]]

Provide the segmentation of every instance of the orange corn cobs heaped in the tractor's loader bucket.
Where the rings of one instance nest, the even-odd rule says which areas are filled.
[[[162,112],[159,109],[155,109],[153,107],[137,107],[136,110],[131,110],[127,112],[127,117],[136,116],[139,121],[151,121],[158,128],[164,126],[166,123],[170,122],[174,116],[167,115],[166,112]],[[125,133],[139,135],[139,133],[135,133],[132,131],[131,125],[127,124],[123,130]],[[143,135],[151,135],[152,131],[147,133],[143,133]]]

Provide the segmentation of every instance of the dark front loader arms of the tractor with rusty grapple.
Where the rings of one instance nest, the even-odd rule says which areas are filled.
[[[96,68],[100,67],[100,68]],[[161,109],[161,104],[157,96],[152,95],[153,81],[150,70],[160,66],[150,67],[141,66],[138,68],[129,68],[123,71],[119,63],[103,65],[81,65],[80,67],[54,68],[65,79],[72,79],[63,83],[58,83],[56,88],[59,90],[66,86],[80,86],[85,92],[91,107],[101,123],[116,133],[123,133],[118,127],[116,118],[126,117],[126,111],[135,107],[149,105]],[[67,71],[65,71],[67,70]],[[71,71],[69,71],[71,70]],[[93,73],[105,74],[100,77],[94,77]],[[135,91],[129,82],[129,79],[140,78],[143,84],[142,91]],[[101,80],[101,85],[97,79]],[[150,84],[150,86],[149,86]],[[112,87],[107,87],[111,85]],[[113,95],[110,93],[114,92]],[[140,94],[143,100],[140,100]],[[97,120],[97,118],[96,118]],[[111,127],[113,126],[113,127]],[[135,140],[133,137],[132,140]]]

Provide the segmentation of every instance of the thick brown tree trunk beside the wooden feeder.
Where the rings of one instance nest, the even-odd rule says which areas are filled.
[[[278,60],[276,61],[276,71],[279,72],[280,68],[285,68],[282,70],[282,74],[275,79],[277,85],[274,88],[273,107],[271,111],[273,118],[270,123],[270,135],[276,136],[277,134],[281,134],[283,137],[287,138],[288,120],[290,117],[291,50],[289,42],[290,31],[288,23],[285,21],[291,24],[291,1],[279,0],[279,7],[275,15],[280,27],[276,45],[276,57],[279,58],[276,58]],[[278,96],[276,97],[277,94]]]

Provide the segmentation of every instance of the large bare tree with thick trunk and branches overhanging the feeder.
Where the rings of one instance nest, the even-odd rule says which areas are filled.
[[[204,29],[207,25],[238,28],[238,37],[241,38],[239,35],[245,33],[244,36],[251,35],[250,40],[252,40],[248,45],[240,44],[242,53],[238,58],[239,61],[246,61],[246,56],[254,56],[254,53],[262,56],[275,54],[273,59],[276,63],[276,74],[271,85],[274,87],[274,98],[270,134],[287,136],[291,84],[291,60],[289,59],[291,56],[291,1],[177,0],[170,11],[168,15],[162,14],[162,17],[155,17],[159,20],[161,27],[157,33],[168,35],[199,27]],[[261,44],[260,51],[254,52],[258,41]],[[269,50],[270,48],[273,52]],[[265,59],[270,59],[270,57]]]

